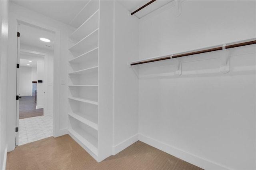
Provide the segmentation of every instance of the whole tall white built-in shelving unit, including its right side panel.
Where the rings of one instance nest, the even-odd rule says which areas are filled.
[[[112,155],[111,8],[90,0],[70,23],[68,132],[98,162]]]

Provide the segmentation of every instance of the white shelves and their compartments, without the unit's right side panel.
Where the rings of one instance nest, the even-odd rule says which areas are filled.
[[[71,23],[68,132],[98,160],[99,1],[91,0]]]

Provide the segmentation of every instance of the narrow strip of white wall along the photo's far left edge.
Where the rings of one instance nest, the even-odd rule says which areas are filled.
[[[0,168],[6,169],[6,96],[8,61],[8,1],[0,1]]]

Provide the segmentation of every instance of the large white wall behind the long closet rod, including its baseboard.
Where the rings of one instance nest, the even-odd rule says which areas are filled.
[[[140,59],[255,38],[255,1],[184,1],[140,20]],[[139,139],[204,169],[256,169],[255,45],[142,64]],[[217,57],[217,58],[216,58]],[[215,58],[215,59],[214,59]],[[206,59],[206,60],[204,60]],[[173,76],[172,76],[173,75]]]

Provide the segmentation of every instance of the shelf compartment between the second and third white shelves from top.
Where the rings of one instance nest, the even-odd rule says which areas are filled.
[[[80,56],[98,47],[99,29],[97,28],[91,34],[74,44],[69,51],[74,57]]]

